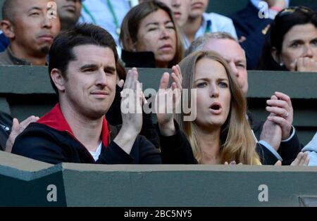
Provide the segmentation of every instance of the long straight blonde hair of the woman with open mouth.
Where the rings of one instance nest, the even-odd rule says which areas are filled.
[[[235,160],[237,163],[247,165],[261,164],[259,156],[256,153],[256,141],[254,140],[251,127],[246,119],[247,100],[244,98],[244,94],[240,89],[235,75],[230,70],[228,63],[219,53],[213,51],[197,51],[184,58],[180,62],[180,69],[183,75],[182,87],[184,89],[193,88],[195,67],[197,62],[202,58],[209,58],[222,64],[227,72],[230,84],[230,112],[220,132],[220,157],[222,163]],[[188,96],[188,103],[191,103],[190,93]],[[197,132],[195,132],[195,127],[198,126],[194,121],[183,121],[183,113],[175,115],[175,118],[180,128],[187,134],[195,158],[199,163],[202,163],[204,153],[199,146],[199,139]]]

